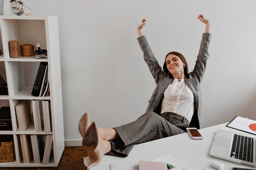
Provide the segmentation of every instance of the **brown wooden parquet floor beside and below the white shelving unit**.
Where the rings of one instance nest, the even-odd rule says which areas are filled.
[[[65,147],[58,167],[0,168],[0,170],[85,170],[83,157],[87,156],[87,152],[82,147]]]

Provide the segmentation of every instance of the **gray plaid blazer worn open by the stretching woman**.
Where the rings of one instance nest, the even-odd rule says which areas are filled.
[[[137,38],[139,45],[141,47],[142,52],[144,53],[144,60],[146,64],[148,64],[148,68],[153,75],[156,83],[155,90],[149,100],[148,108],[146,109],[146,113],[149,111],[153,111],[157,114],[160,114],[162,99],[164,97],[164,91],[169,84],[173,81],[173,76],[168,75],[164,71],[162,71],[162,67],[159,65],[157,60],[155,59],[155,55],[153,54],[146,36],[143,35]],[[209,45],[211,41],[211,33],[203,33],[202,40],[200,44],[200,50],[198,53],[197,60],[195,62],[195,67],[193,71],[191,71],[186,77],[185,82],[191,88],[194,95],[194,106],[195,110],[193,113],[193,117],[190,122],[190,127],[200,128],[200,118],[201,118],[201,105],[202,105],[202,96],[200,83],[202,81],[202,77],[205,72],[206,62],[209,58]]]

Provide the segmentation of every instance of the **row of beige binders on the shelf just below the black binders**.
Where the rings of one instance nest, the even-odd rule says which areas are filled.
[[[21,100],[16,104],[19,131],[52,132],[51,106],[49,100]],[[34,129],[33,129],[34,128]]]

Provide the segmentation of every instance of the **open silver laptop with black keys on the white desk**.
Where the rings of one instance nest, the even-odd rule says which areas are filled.
[[[256,136],[252,137],[247,133],[218,129],[211,147],[210,156],[256,167],[255,139]]]

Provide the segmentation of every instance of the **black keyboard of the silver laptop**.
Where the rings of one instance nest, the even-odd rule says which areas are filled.
[[[252,137],[234,134],[230,157],[253,162],[253,142]]]

